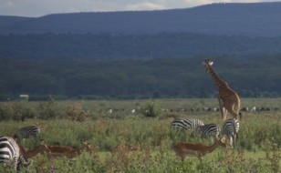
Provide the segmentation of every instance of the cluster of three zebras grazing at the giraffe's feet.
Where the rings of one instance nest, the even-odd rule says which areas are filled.
[[[183,119],[175,118],[171,123],[172,128],[179,131],[193,130],[193,135],[201,137],[215,137],[219,139],[221,136],[226,136],[229,139],[229,145],[235,147],[235,140],[238,137],[239,121],[234,118],[229,118],[224,121],[222,130],[216,124],[204,124],[200,119]]]

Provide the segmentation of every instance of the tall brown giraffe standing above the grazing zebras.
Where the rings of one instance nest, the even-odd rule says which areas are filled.
[[[227,117],[227,112],[234,116],[236,119],[240,115],[240,98],[237,93],[231,89],[224,80],[220,79],[219,76],[213,71],[213,62],[210,59],[205,59],[206,71],[211,74],[215,86],[219,88],[219,105],[223,119]]]

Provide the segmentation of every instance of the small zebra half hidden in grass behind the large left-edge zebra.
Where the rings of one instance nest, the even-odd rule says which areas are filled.
[[[16,130],[14,138],[22,139],[29,137],[38,137],[40,134],[40,128],[36,126],[22,127]]]

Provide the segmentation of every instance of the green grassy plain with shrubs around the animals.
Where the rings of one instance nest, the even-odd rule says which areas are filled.
[[[151,103],[157,116],[143,116]],[[37,155],[30,158],[28,172],[280,172],[281,99],[242,99],[242,107],[254,106],[270,110],[244,112],[236,148],[217,148],[203,163],[189,157],[182,163],[172,146],[180,141],[211,145],[211,140],[190,137],[190,132],[178,134],[170,124],[173,117],[196,117],[222,126],[220,112],[213,111],[217,100],[211,98],[2,102],[0,131],[1,136],[13,136],[19,127],[36,125],[49,145],[81,148],[81,141],[87,141],[92,146],[72,159],[49,161]],[[34,148],[37,141],[31,138],[21,144]],[[0,172],[4,171],[13,168],[2,165]]]

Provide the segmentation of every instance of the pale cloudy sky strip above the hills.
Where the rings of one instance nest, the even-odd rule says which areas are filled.
[[[71,12],[104,12],[188,8],[212,3],[281,0],[0,0],[0,15],[42,16]]]

